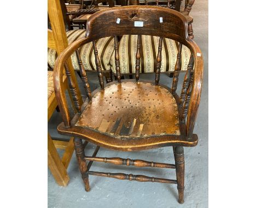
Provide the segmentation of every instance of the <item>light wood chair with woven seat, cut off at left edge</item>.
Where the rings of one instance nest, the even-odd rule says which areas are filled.
[[[57,54],[60,54],[68,46],[68,42],[59,0],[48,0],[48,15],[51,22],[51,28],[53,29],[48,29],[48,47],[55,48]],[[68,60],[67,66],[73,71],[71,60]],[[71,76],[75,80],[74,72],[71,73]],[[63,76],[63,84],[65,91],[68,90],[69,87],[66,75]],[[48,121],[57,107],[56,94],[53,85],[53,71],[48,71]],[[69,90],[68,92],[70,93]],[[78,100],[82,101],[79,90],[77,93]],[[62,158],[60,158],[56,148],[65,149]],[[69,142],[62,142],[51,139],[48,132],[48,167],[60,186],[67,186],[69,181],[67,168],[73,151],[73,137],[71,137]]]

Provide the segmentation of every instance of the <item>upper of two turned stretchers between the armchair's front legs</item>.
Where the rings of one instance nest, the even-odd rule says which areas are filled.
[[[131,160],[129,158],[124,159],[124,158],[120,158],[120,157],[94,157],[94,156],[89,157],[89,156],[85,156],[84,160],[111,163],[111,164],[116,164],[118,166],[126,165],[126,166],[137,166],[137,167],[156,167],[156,168],[175,169],[174,164],[149,162],[149,161],[144,161],[144,160]],[[88,167],[89,167],[89,165],[88,165]]]

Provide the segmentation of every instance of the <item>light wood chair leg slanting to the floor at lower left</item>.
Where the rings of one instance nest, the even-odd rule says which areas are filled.
[[[56,182],[60,186],[67,186],[69,177],[65,166],[63,166],[59,154],[54,146],[53,140],[48,133],[48,167]]]

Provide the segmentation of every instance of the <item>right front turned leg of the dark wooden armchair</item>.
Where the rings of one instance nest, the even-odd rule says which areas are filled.
[[[179,194],[179,204],[184,203],[184,149],[183,146],[176,146],[173,148],[175,166],[176,166],[176,177],[177,177],[177,189]]]

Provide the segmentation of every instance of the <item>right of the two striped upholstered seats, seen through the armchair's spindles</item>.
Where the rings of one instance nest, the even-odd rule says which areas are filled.
[[[135,61],[137,52],[137,36],[124,35],[119,45],[119,58],[121,74],[135,74]],[[155,72],[156,56],[158,56],[159,37],[142,35],[141,40],[141,73]],[[163,38],[161,72],[174,71],[177,59],[177,42]],[[115,74],[115,53],[110,59],[110,66]],[[182,48],[182,71],[187,70],[190,50]]]

